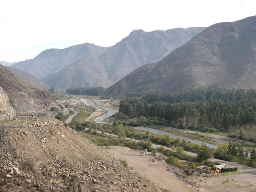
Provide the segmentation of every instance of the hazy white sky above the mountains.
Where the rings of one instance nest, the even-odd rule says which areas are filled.
[[[0,60],[85,42],[112,46],[134,29],[207,27],[255,8],[256,0],[0,0]]]

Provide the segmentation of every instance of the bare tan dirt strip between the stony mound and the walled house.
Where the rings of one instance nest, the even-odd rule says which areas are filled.
[[[172,192],[196,191],[177,178],[172,171],[167,171],[169,166],[164,161],[159,164],[157,161],[152,162],[150,156],[145,156],[143,152],[126,147],[107,146],[103,149],[120,160],[126,160],[128,166],[160,188],[168,188]]]

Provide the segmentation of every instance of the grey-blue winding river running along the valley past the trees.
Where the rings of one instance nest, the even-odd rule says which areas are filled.
[[[82,98],[82,99],[85,99],[86,102],[88,102],[88,104],[94,106],[94,107],[100,107],[100,108],[103,108],[105,110],[108,110],[108,112],[98,118],[96,118],[94,121],[97,122],[97,123],[102,123],[102,124],[109,124],[107,122],[104,122],[104,119],[112,116],[113,114],[115,114],[116,112],[118,112],[118,110],[114,110],[112,108],[109,108],[109,107],[105,107],[105,106],[98,106],[96,105],[92,100],[90,99],[86,99],[86,98]],[[158,129],[153,129],[153,128],[146,128],[146,127],[133,127],[134,129],[137,129],[137,130],[144,130],[144,131],[150,131],[152,133],[156,133],[156,134],[160,134],[160,135],[169,135],[170,138],[180,138],[180,140],[183,140],[185,139],[186,141],[188,142],[191,142],[191,143],[194,143],[194,144],[199,144],[201,145],[201,143],[204,143],[206,144],[206,146],[210,147],[210,148],[217,148],[218,145],[214,145],[214,144],[210,144],[210,143],[206,143],[206,142],[201,142],[201,141],[198,141],[198,140],[194,140],[194,139],[190,139],[190,138],[186,138],[186,137],[183,137],[183,136],[179,136],[179,135],[176,135],[176,134],[172,134],[172,133],[168,133],[168,132],[165,132],[165,131],[161,131],[161,130],[158,130]]]

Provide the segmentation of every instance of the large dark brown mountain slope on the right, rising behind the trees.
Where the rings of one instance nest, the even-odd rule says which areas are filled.
[[[214,24],[161,61],[142,66],[116,84],[106,96],[128,92],[181,92],[217,84],[256,88],[256,16]]]

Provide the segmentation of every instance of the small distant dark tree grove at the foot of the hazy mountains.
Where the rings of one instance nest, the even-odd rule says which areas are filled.
[[[103,87],[73,87],[67,89],[68,94],[100,96],[104,92]]]

